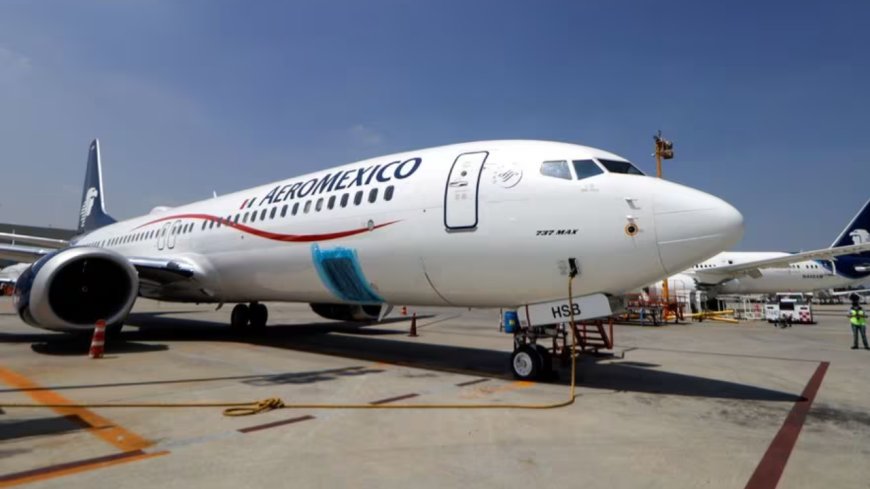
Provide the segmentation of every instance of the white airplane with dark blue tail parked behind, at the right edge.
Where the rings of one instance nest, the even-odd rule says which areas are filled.
[[[671,291],[708,297],[812,292],[856,285],[870,276],[870,201],[829,248],[801,253],[726,251],[668,278]],[[650,286],[661,296],[661,282]]]

